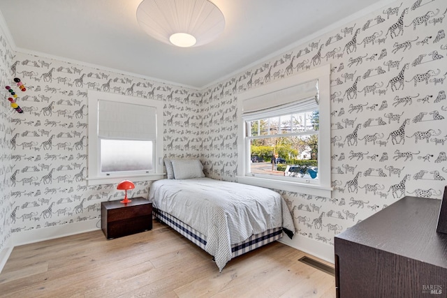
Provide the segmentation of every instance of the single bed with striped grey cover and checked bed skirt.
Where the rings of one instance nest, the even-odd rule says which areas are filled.
[[[150,187],[154,216],[210,253],[219,271],[283,232],[293,237],[293,218],[279,193],[205,178],[198,160],[172,160],[172,166],[170,174],[166,163],[168,179]]]

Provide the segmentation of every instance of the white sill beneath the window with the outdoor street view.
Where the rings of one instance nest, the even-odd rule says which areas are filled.
[[[305,193],[307,195],[331,198],[332,188],[330,186],[325,187],[315,184],[304,184],[298,182],[264,179],[259,177],[237,176],[236,178],[237,182],[242,184],[250,184],[265,188],[279,189],[280,191],[292,191],[294,193]]]

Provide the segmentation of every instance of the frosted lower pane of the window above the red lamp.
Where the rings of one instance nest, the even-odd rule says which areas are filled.
[[[152,148],[152,141],[101,139],[101,172],[152,172]]]

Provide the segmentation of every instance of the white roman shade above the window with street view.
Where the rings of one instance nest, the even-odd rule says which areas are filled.
[[[247,98],[242,103],[244,121],[318,109],[318,80]]]

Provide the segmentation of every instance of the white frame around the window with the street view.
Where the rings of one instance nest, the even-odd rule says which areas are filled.
[[[301,180],[294,181],[290,177],[259,177],[259,175],[250,173],[251,156],[246,133],[249,128],[247,128],[246,121],[242,118],[244,100],[274,93],[312,80],[318,80],[318,148],[320,148],[318,150],[318,181],[313,181],[311,184]],[[237,96],[237,123],[239,136],[237,161],[240,165],[237,172],[238,182],[330,198],[332,191],[330,186],[330,64],[239,94]]]

